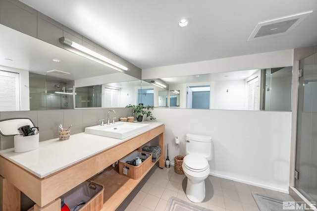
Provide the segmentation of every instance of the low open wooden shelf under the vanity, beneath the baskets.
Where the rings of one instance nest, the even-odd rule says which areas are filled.
[[[153,166],[156,163],[157,162],[151,162],[150,168],[142,175],[141,178],[139,179],[127,178],[127,181],[121,187],[118,187],[117,191],[104,202],[104,207],[101,211],[109,211],[109,210],[114,211],[115,209],[117,209],[120,206],[120,204],[127,198],[127,196],[134,190],[134,188],[140,183],[140,181],[149,173],[149,171],[153,168]],[[106,172],[110,170],[113,170],[113,167],[106,169],[101,174],[106,174]],[[120,175],[120,174],[117,173],[117,175]],[[107,181],[105,181],[104,183],[101,181],[95,181],[94,178],[91,181],[102,184],[105,188],[104,190],[105,191],[104,195],[105,195],[107,191],[107,183],[109,183],[109,181],[111,183],[115,183],[115,181],[117,180],[117,175],[107,176]]]

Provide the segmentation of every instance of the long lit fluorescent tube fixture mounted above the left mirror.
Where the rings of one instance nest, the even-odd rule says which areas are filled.
[[[86,48],[86,47],[84,47],[82,45],[79,45],[78,43],[75,43],[75,42],[73,42],[71,40],[68,40],[65,37],[59,38],[59,42],[62,43],[62,44],[65,44],[67,46],[70,46],[70,47],[72,47],[74,49],[77,49],[77,50],[79,50],[79,51],[81,51],[83,53],[87,53],[88,55],[91,55],[91,56],[93,56],[95,58],[98,58],[98,59],[100,59],[100,60],[102,60],[102,61],[104,61],[104,62],[106,62],[108,64],[111,64],[111,65],[113,65],[115,67],[118,67],[118,68],[120,68],[122,70],[128,70],[128,68],[126,66],[123,66],[122,64],[119,64],[118,62],[115,62],[115,61],[107,58],[106,56],[103,56],[103,55],[101,55],[99,53],[96,53],[96,52],[94,52],[94,51],[92,51],[92,50],[90,50],[90,49],[88,49],[88,48]],[[107,66],[111,67],[110,65],[107,65]]]

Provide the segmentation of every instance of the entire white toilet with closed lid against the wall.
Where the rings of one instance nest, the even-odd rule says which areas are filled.
[[[211,159],[211,137],[186,134],[186,156],[182,168],[187,177],[186,196],[192,202],[205,199],[205,179],[210,173],[208,160]]]

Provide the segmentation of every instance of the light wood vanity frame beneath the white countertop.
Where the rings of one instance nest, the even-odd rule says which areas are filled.
[[[159,146],[161,147],[159,167],[163,168],[164,130],[165,126],[161,124],[143,134],[115,145],[97,155],[86,158],[44,178],[39,178],[24,168],[0,156],[0,175],[3,177],[0,181],[1,184],[5,184],[5,186],[0,186],[2,189],[0,190],[0,192],[2,191],[2,194],[0,195],[0,201],[2,201],[1,209],[3,211],[20,211],[20,203],[18,206],[12,207],[11,202],[18,201],[17,199],[20,197],[20,191],[22,191],[36,203],[34,206],[35,211],[58,211],[60,210],[59,196],[89,178],[92,178],[113,162],[123,158],[156,137],[159,137]],[[152,166],[153,165],[154,163]],[[104,205],[104,208],[107,207],[106,210],[115,210],[141,179],[142,178],[128,182],[121,187],[118,187],[118,195],[114,197],[117,200],[104,202],[106,204],[106,206]],[[107,184],[103,183],[103,185],[106,186]],[[3,187],[5,187],[5,189]]]

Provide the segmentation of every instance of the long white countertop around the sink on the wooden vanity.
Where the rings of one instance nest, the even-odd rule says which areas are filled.
[[[1,150],[0,156],[7,158],[32,174],[43,178],[163,125],[162,122],[146,121],[141,123],[149,124],[150,129],[125,139],[78,133],[70,135],[70,138],[66,141],[59,141],[58,138],[41,141],[38,149],[25,153],[15,153],[14,148]]]

